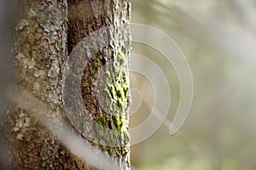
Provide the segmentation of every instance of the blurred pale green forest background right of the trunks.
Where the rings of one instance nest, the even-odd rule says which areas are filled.
[[[256,2],[134,0],[131,16],[133,23],[154,26],[172,37],[194,79],[193,104],[180,132],[171,136],[162,125],[131,147],[131,163],[143,170],[256,169]],[[132,48],[133,54],[152,59],[165,73],[172,94],[167,122],[172,121],[180,98],[172,65],[154,48],[139,43]],[[150,87],[145,78],[131,73],[131,88],[140,91],[132,91],[134,101],[154,98],[153,88],[144,89],[145,84]],[[131,127],[150,111],[134,105]]]

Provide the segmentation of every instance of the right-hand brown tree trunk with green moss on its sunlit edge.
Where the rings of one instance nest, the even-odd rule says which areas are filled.
[[[69,53],[76,48],[75,55],[70,57],[84,55],[79,57],[88,59],[80,87],[89,116],[73,115],[75,122],[83,122],[73,126],[95,147],[118,159],[120,169],[130,168],[127,73],[130,3],[130,0],[70,0],[68,15]],[[90,47],[81,53],[84,50],[79,48],[83,46],[78,44],[84,37],[90,37],[85,40],[90,41]]]

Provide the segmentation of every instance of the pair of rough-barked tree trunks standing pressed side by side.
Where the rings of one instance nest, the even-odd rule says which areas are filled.
[[[31,101],[31,105],[42,102],[49,107],[50,111],[36,110],[38,115],[66,122],[74,134],[116,160],[118,169],[130,169],[127,132],[130,8],[130,0],[20,0],[12,51],[18,92],[25,90],[35,97],[37,100]],[[74,119],[70,120],[63,99],[68,55],[84,37],[102,28],[108,28],[108,35],[98,34],[91,43],[108,44],[86,58],[81,91],[76,92],[82,96],[88,114],[81,118],[74,112]],[[76,100],[75,96],[70,99]],[[9,168],[97,169],[68,150],[51,132],[55,126],[47,126],[27,107],[16,103],[7,107],[4,139],[9,148]]]

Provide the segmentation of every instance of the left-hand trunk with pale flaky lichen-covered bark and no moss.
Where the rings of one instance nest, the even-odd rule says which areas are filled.
[[[42,114],[62,117],[58,113],[61,67],[67,59],[67,1],[21,0],[19,16],[13,48],[19,88],[55,111]],[[7,108],[4,129],[10,169],[85,169],[49,130],[17,105]]]

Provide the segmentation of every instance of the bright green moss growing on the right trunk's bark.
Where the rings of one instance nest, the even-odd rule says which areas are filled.
[[[91,53],[93,52],[93,48],[90,49]],[[118,54],[119,59],[115,60],[116,63],[114,63],[114,69],[113,71],[116,72],[115,75],[113,75],[112,70],[105,71],[104,76],[107,77],[108,80],[111,82],[102,82],[102,84],[98,84],[99,87],[103,89],[103,95],[106,96],[107,99],[110,99],[108,103],[108,107],[110,108],[109,111],[111,111],[112,120],[109,120],[109,122],[106,120],[105,117],[98,117],[96,118],[96,122],[99,125],[99,134],[106,140],[108,144],[116,144],[119,145],[118,139],[119,138],[109,138],[108,134],[106,134],[106,128],[108,128],[108,123],[111,123],[111,127],[113,127],[114,135],[118,137],[123,137],[125,139],[125,144],[127,144],[130,141],[130,136],[127,131],[127,127],[125,127],[124,119],[121,118],[121,116],[125,115],[125,106],[127,105],[127,97],[129,93],[129,86],[126,83],[126,70],[125,70],[125,54],[119,52]],[[93,71],[99,71],[99,69],[102,67],[101,62],[101,54],[97,53],[92,59],[91,59],[91,69]],[[87,80],[88,81],[88,80]],[[104,98],[104,99],[106,99]],[[106,127],[106,128],[105,128]],[[122,148],[120,148],[122,150]],[[114,154],[116,150],[109,147],[108,153],[110,155]]]

